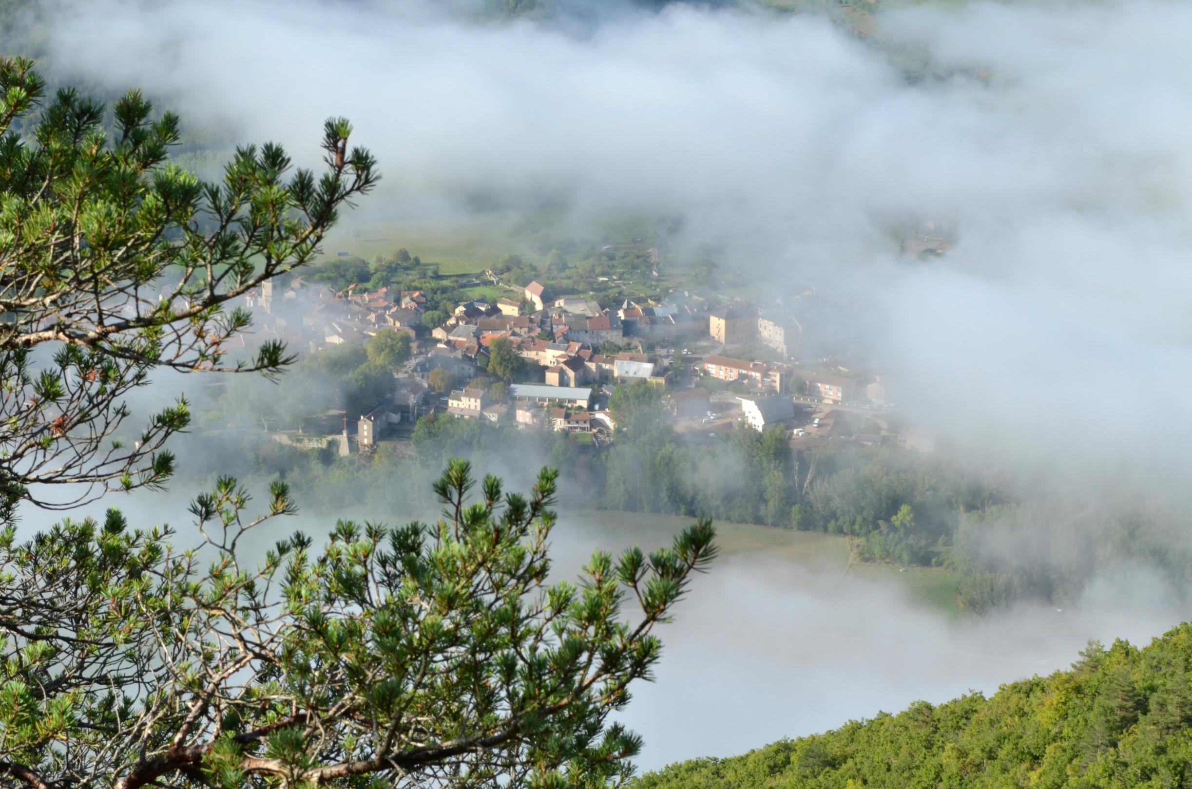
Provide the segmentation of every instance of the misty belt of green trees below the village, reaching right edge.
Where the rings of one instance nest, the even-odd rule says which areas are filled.
[[[316,354],[303,365],[328,366],[324,377],[294,377],[281,398],[263,398],[266,404],[284,408],[308,389],[336,391],[318,383],[334,378],[329,366],[336,361],[344,369],[360,365],[339,385],[366,400],[361,368],[370,362],[360,352],[340,360],[350,354]],[[249,400],[229,393],[228,402],[242,409]],[[261,470],[291,480],[318,504],[325,498],[347,505],[360,498],[342,498],[344,485],[384,491],[393,479],[428,482],[452,456],[502,467],[550,464],[575,483],[569,507],[838,534],[857,561],[955,572],[960,605],[979,614],[1028,599],[1067,605],[1098,573],[1134,564],[1161,570],[1174,588],[1192,586],[1192,554],[1177,508],[1130,503],[1120,491],[1095,497],[1061,486],[1032,490],[1004,472],[896,446],[831,441],[795,451],[781,429],[732,429],[710,442],[691,441],[673,431],[668,409],[665,390],[642,381],[615,390],[609,410],[616,439],[601,448],[560,434],[424,417],[412,442],[402,445],[411,452],[386,451],[366,461],[324,452],[283,461],[267,448]]]

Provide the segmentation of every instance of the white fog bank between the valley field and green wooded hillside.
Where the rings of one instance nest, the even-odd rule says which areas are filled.
[[[1123,598],[1123,589],[1134,594]],[[626,721],[646,740],[640,763],[648,770],[744,753],[919,700],[991,695],[1005,682],[1068,667],[1089,639],[1147,644],[1187,615],[1167,592],[1142,572],[1095,582],[1070,610],[1023,605],[946,620],[896,582],[741,557],[700,578],[676,623],[660,630],[658,679],[634,691]]]

